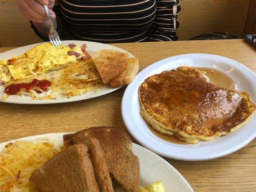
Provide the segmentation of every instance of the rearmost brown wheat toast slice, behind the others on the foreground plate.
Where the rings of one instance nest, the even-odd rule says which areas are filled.
[[[113,127],[92,127],[63,136],[64,144],[88,144],[91,137],[98,139],[114,182],[122,191],[138,192],[140,168],[138,157],[131,147],[131,138],[122,130]]]

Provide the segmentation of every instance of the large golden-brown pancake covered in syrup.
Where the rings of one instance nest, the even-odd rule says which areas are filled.
[[[247,93],[208,83],[204,72],[190,67],[148,77],[139,99],[141,116],[154,130],[189,144],[238,130],[255,110]]]

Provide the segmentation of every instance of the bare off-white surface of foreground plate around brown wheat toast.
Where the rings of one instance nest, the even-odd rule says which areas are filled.
[[[10,142],[15,142],[17,140],[35,140],[43,137],[50,137],[58,144],[63,144],[63,134],[67,134],[67,132],[34,135],[8,141],[0,144],[0,151],[2,151],[4,146]],[[152,182],[162,180],[167,192],[193,192],[193,189],[183,176],[166,160],[138,144],[133,143],[132,149],[135,155],[138,156],[140,162],[141,186],[145,187]]]

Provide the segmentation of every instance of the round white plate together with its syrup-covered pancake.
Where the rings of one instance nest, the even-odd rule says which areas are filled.
[[[130,134],[158,155],[188,161],[229,155],[256,137],[256,74],[210,54],[160,60],[122,98]]]

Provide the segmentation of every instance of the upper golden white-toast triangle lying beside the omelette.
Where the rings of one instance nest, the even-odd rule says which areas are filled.
[[[109,84],[125,70],[127,58],[127,53],[108,49],[99,50],[92,56],[104,84]]]

